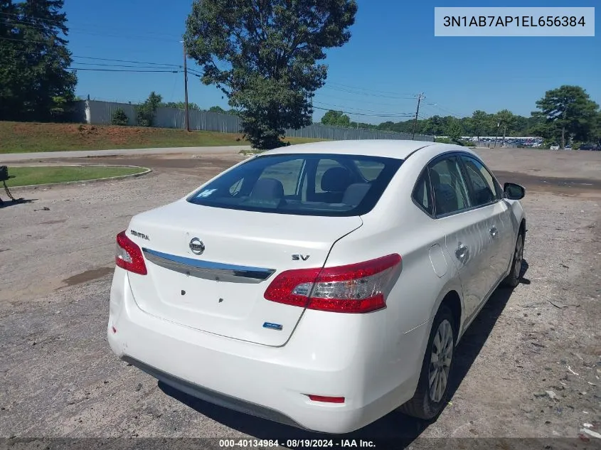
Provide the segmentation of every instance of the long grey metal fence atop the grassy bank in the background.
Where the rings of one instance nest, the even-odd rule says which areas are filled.
[[[81,117],[84,110],[85,122],[88,124],[110,125],[112,114],[117,109],[123,109],[130,125],[136,125],[136,105],[130,103],[101,102],[85,100],[75,102],[75,108]],[[240,133],[242,121],[240,117],[231,114],[220,114],[208,111],[189,111],[190,129],[195,131]],[[154,127],[179,128],[186,126],[184,109],[159,108],[156,110]],[[287,129],[287,137],[304,137],[309,139],[330,139],[344,141],[349,139],[412,139],[409,133],[383,132],[371,129],[355,129],[344,127],[329,127],[327,125],[312,124],[302,129]],[[434,141],[434,136],[415,134],[416,141]]]

